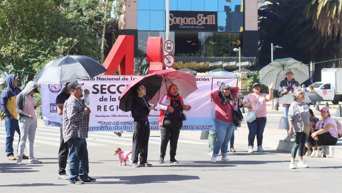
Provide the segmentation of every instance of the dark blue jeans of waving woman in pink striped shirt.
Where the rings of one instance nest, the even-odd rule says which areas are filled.
[[[257,117],[251,123],[247,122],[248,126],[248,146],[254,147],[255,135],[257,135],[257,145],[262,145],[263,133],[266,126],[266,117]]]

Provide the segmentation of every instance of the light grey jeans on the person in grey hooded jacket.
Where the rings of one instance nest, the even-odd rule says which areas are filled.
[[[24,149],[25,149],[25,143],[28,138],[28,157],[33,158],[34,152],[33,152],[33,143],[35,142],[35,135],[37,130],[37,118],[30,119],[28,117],[23,117],[22,121],[19,121],[19,128],[20,132],[22,134],[19,146],[18,146],[18,155],[19,158],[22,158],[24,155]]]

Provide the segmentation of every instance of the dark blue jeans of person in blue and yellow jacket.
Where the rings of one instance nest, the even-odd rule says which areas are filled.
[[[5,129],[6,129],[6,144],[5,144],[5,151],[6,156],[13,156],[13,141],[14,141],[14,132],[16,131],[19,135],[18,145],[17,145],[17,154],[20,142],[20,129],[19,129],[19,122],[14,117],[12,119],[8,119],[7,116],[5,117]]]

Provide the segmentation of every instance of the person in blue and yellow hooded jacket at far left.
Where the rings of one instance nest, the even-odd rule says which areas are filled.
[[[15,99],[17,95],[22,91],[18,87],[18,78],[15,74],[9,74],[6,78],[7,87],[1,93],[1,111],[5,114],[5,129],[6,129],[6,147],[5,152],[7,159],[16,160],[13,153],[13,141],[15,131],[19,135],[18,146],[20,141],[20,129],[19,122],[17,119],[17,111],[15,107]],[[17,146],[17,154],[18,154]],[[17,155],[18,157],[18,155]],[[28,159],[27,156],[23,154],[23,159]]]

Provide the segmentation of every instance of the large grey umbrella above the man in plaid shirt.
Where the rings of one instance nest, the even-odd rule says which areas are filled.
[[[85,55],[68,55],[46,64],[39,70],[37,84],[61,84],[90,79],[108,70],[96,60]]]

